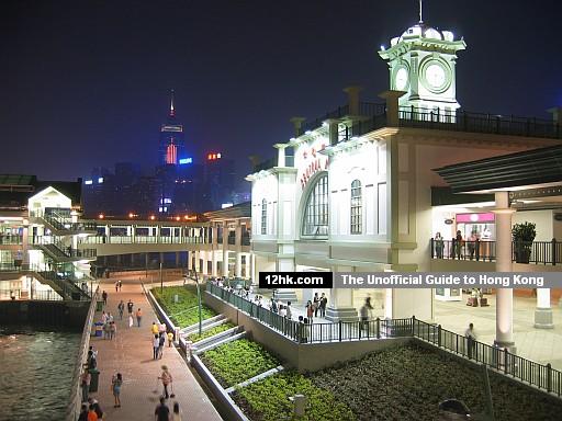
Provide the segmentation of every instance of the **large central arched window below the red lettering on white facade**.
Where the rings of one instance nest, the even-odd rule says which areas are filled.
[[[303,236],[328,237],[328,175],[321,175],[304,209]]]

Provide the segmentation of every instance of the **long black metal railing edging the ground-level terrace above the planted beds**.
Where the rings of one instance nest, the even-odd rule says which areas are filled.
[[[550,364],[536,363],[512,354],[507,349],[471,340],[442,329],[440,325],[427,323],[415,317],[310,325],[290,320],[212,282],[207,282],[206,291],[297,343],[417,338],[441,350],[485,364],[498,373],[539,389],[559,397],[562,395],[562,372],[552,368]]]

